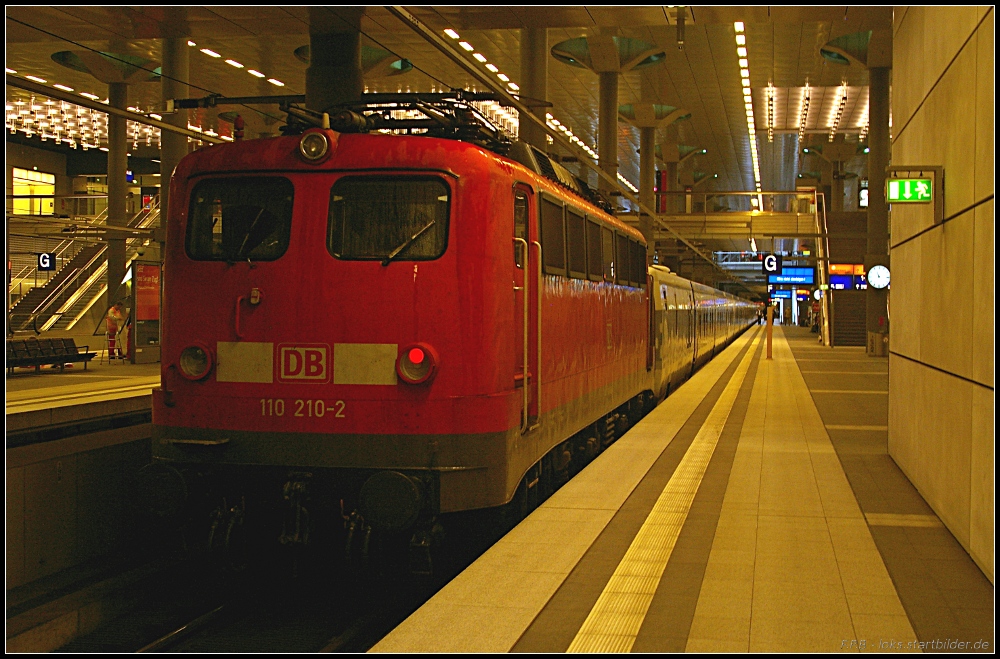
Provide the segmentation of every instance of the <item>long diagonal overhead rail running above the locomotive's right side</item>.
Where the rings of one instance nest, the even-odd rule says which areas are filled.
[[[478,83],[485,85],[488,89],[491,89],[497,94],[501,95],[505,99],[504,103],[505,105],[509,105],[510,107],[513,107],[518,111],[521,121],[527,119],[528,121],[534,122],[536,125],[541,127],[543,131],[545,131],[546,135],[552,138],[553,142],[563,147],[564,149],[568,150],[570,153],[578,153],[580,156],[587,156],[586,152],[583,149],[578,148],[570,140],[563,137],[563,135],[560,134],[558,131],[553,130],[545,122],[544,119],[540,119],[539,117],[535,116],[535,114],[531,112],[530,108],[526,104],[522,103],[520,99],[518,99],[516,96],[508,92],[503,87],[497,85],[491,77],[483,74],[478,68],[473,66],[471,62],[469,62],[465,57],[463,57],[454,48],[452,48],[451,45],[448,44],[448,42],[439,37],[434,30],[431,30],[426,25],[424,25],[419,18],[411,14],[404,7],[387,6],[386,10],[388,10],[389,13],[391,13],[393,16],[396,16],[399,20],[401,20],[403,23],[409,26],[410,29],[412,29],[418,35],[423,37],[432,46],[437,48],[443,55],[445,55],[452,62],[461,67],[462,70],[464,70],[466,73],[475,78]],[[738,284],[746,288],[748,292],[751,293],[753,292],[742,280],[738,279],[737,277],[733,277],[724,268],[720,267],[719,264],[717,264],[711,257],[704,254],[700,249],[695,247],[689,240],[687,240],[682,235],[674,231],[668,224],[659,220],[658,214],[653,209],[641,203],[639,201],[638,196],[632,194],[629,190],[624,188],[615,177],[611,176],[610,174],[602,170],[600,167],[597,166],[597,164],[591,162],[589,157],[582,157],[580,161],[583,162],[591,170],[595,171],[599,178],[603,179],[605,182],[614,186],[613,189],[618,190],[622,197],[632,202],[632,204],[635,205],[637,208],[639,208],[639,210],[641,210],[646,215],[649,215],[650,217],[656,218],[656,222],[662,228],[670,232],[670,234],[673,235],[674,238],[683,243],[692,252],[694,252],[702,259],[707,261],[715,270],[717,270],[727,279],[737,282]]]

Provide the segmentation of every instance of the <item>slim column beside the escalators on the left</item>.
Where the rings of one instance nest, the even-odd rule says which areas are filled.
[[[108,84],[108,104],[113,108],[128,108],[128,85],[124,82]],[[108,115],[108,226],[123,227],[128,222],[125,208],[128,171],[128,134],[124,117]],[[118,232],[108,232],[108,304],[124,298],[119,289],[125,278],[125,237]]]

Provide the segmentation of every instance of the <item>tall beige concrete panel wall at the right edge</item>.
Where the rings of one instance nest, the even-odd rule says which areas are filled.
[[[889,453],[990,581],[994,16],[895,8],[891,164],[943,166],[945,203],[890,215]]]

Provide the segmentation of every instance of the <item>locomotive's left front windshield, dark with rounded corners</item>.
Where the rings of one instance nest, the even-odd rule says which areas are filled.
[[[191,193],[187,254],[195,261],[273,261],[288,249],[292,182],[238,177],[199,182]]]

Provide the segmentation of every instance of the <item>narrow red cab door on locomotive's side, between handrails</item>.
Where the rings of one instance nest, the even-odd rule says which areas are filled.
[[[521,392],[521,432],[538,423],[540,372],[538,344],[541,246],[538,243],[534,192],[526,185],[514,187],[514,386]]]

